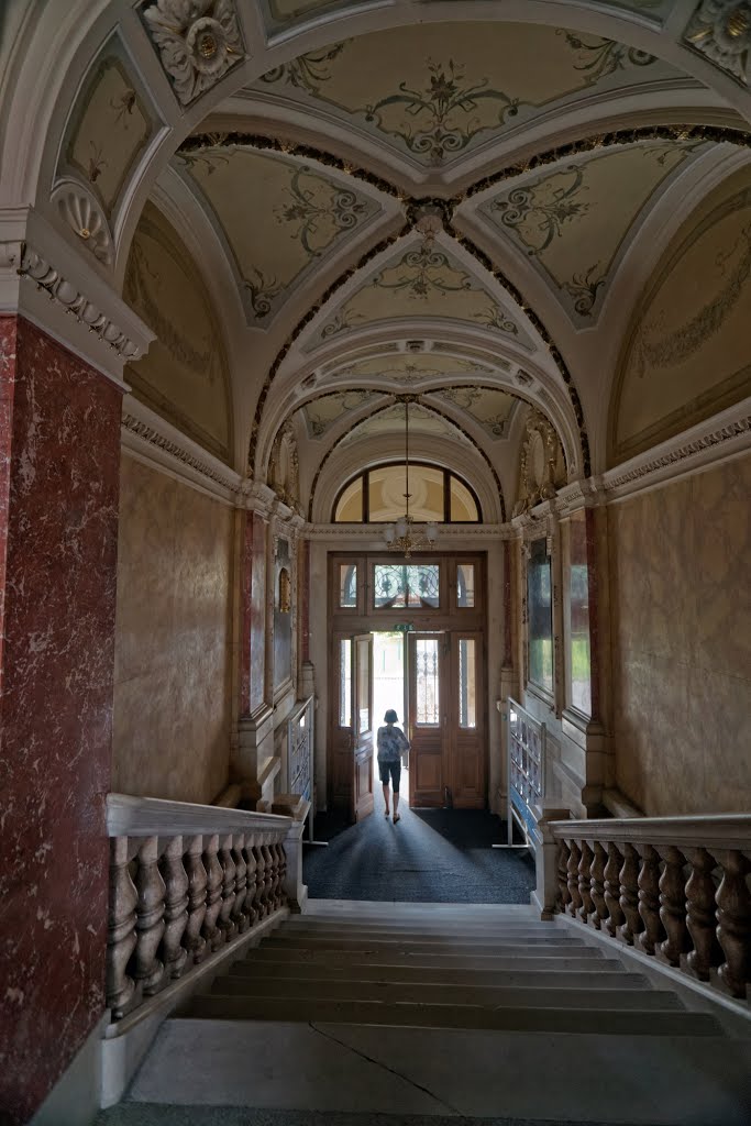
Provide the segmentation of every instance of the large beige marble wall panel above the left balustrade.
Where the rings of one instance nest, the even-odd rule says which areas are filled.
[[[211,802],[227,780],[232,510],[120,470],[113,789]]]

